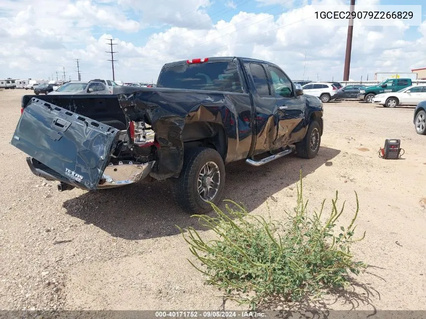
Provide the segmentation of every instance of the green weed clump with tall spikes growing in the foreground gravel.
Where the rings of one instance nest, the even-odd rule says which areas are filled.
[[[364,232],[353,239],[357,194],[355,214],[347,227],[339,227],[338,234],[335,227],[344,203],[337,208],[337,191],[326,218],[325,200],[319,212],[309,214],[308,201],[302,195],[300,171],[296,207],[292,213],[285,212],[283,221],[250,215],[232,201],[225,205],[227,213],[212,205],[215,217],[194,215],[216,236],[206,241],[193,227],[186,232],[179,228],[196,258],[189,262],[206,276],[208,284],[222,289],[225,297],[248,303],[253,309],[277,297],[297,301],[346,286],[349,272],[357,275],[366,267],[354,262],[350,251],[351,244],[365,236]]]

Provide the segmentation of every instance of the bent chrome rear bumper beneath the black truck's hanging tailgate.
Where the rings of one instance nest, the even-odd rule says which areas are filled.
[[[154,166],[154,163],[155,161],[148,162],[145,164],[119,162],[119,164],[117,165],[112,165],[111,163],[105,168],[102,178],[96,188],[102,189],[119,187],[142,180],[149,175],[152,167]],[[71,185],[70,181],[64,178],[64,176],[56,173],[54,170],[50,169],[43,163],[40,163],[33,157],[27,157],[27,164],[30,167],[31,172],[36,176],[43,177],[47,180],[57,180],[59,182],[66,183],[72,186],[72,188],[76,186],[75,183]],[[87,189],[84,187],[79,188]]]

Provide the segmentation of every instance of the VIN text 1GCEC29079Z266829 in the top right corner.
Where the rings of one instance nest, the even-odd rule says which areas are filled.
[[[412,19],[411,11],[316,11],[317,19]]]

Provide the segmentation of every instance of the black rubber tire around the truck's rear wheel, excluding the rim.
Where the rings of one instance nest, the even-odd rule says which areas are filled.
[[[219,178],[215,174],[215,180],[218,181],[216,193],[210,200],[211,203],[217,205],[223,195],[225,185],[225,165],[223,164],[220,154],[211,148],[197,147],[185,150],[184,164],[180,175],[173,182],[173,197],[178,205],[190,211],[191,213],[204,214],[212,210],[211,205],[201,198],[199,186],[203,188],[203,183],[199,185],[199,175],[205,165],[214,163],[219,173]],[[208,182],[210,184],[210,180]],[[211,192],[209,190],[208,192]],[[207,195],[208,195],[207,194]]]

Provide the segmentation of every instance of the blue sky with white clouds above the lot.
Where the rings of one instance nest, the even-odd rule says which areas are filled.
[[[0,79],[112,79],[156,82],[164,63],[244,56],[280,66],[292,80],[343,79],[347,26],[313,25],[311,5],[349,0],[0,0]],[[404,0],[421,5],[423,0]],[[356,0],[398,5],[399,0]],[[349,78],[426,68],[421,24],[354,24]]]

